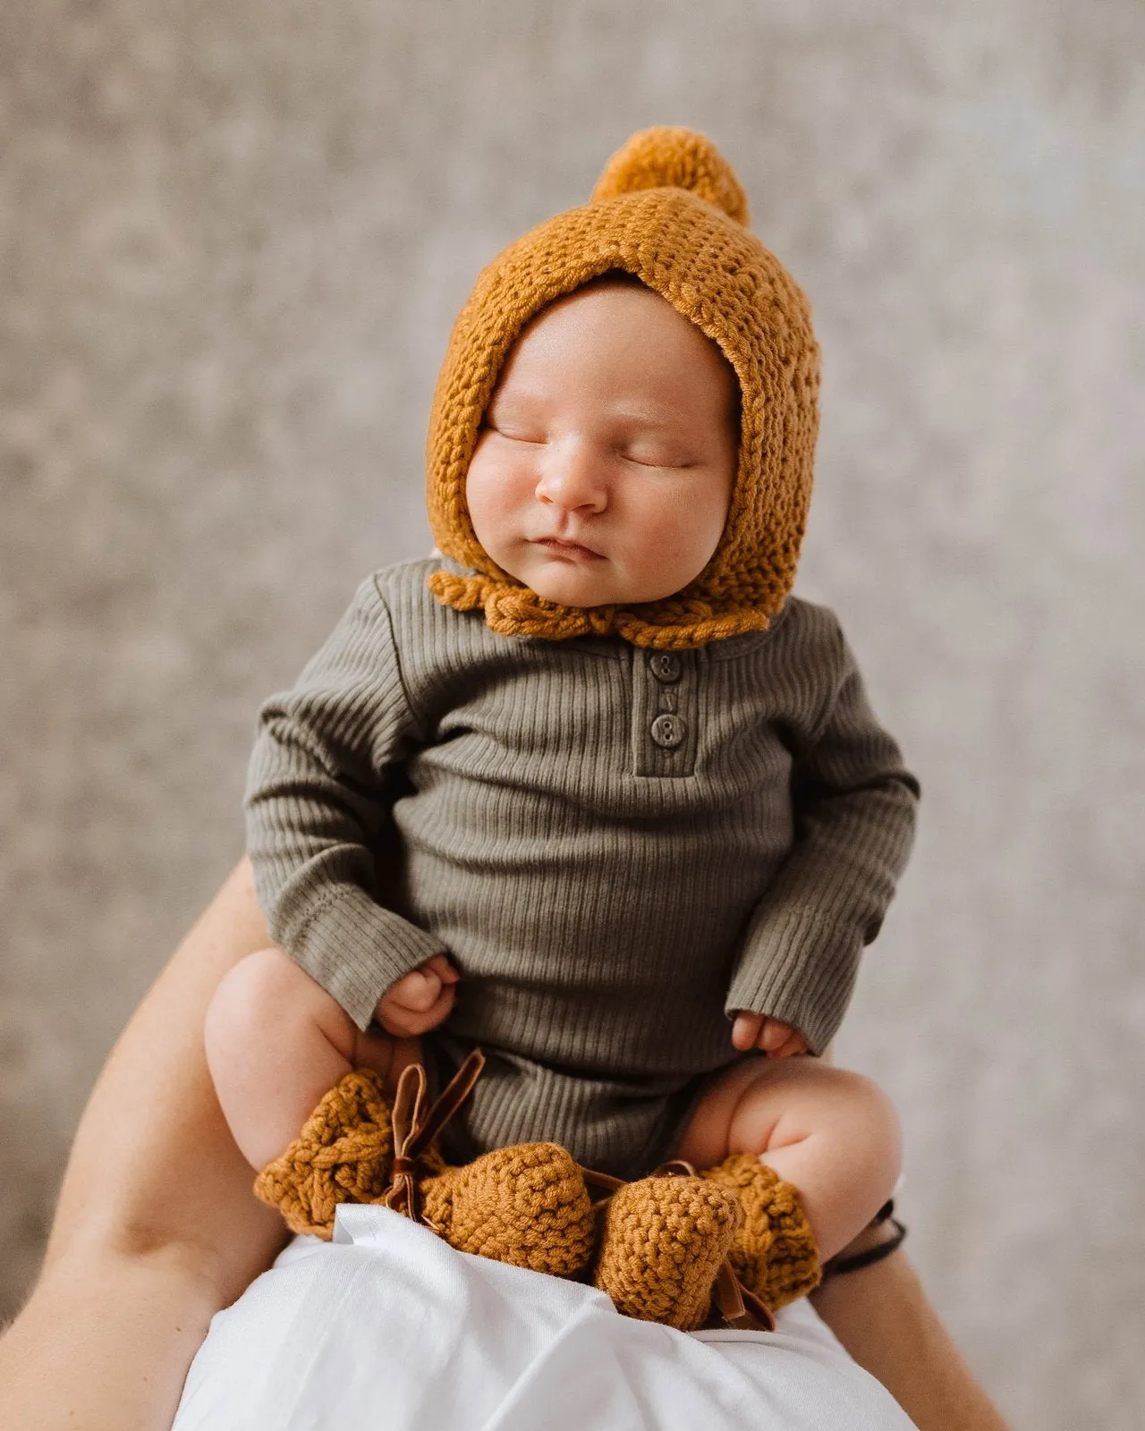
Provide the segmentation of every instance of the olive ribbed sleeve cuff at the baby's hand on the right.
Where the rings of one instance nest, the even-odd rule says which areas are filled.
[[[856,929],[806,910],[769,910],[749,927],[724,1010],[781,1019],[822,1053],[843,1022],[862,950]]]

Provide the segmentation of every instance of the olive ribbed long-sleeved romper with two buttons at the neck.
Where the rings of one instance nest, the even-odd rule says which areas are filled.
[[[369,577],[262,708],[248,844],[271,934],[359,1027],[435,953],[441,1080],[487,1070],[447,1155],[532,1139],[668,1156],[729,1012],[833,1036],[906,861],[917,783],[824,607],[696,650],[489,631]],[[458,568],[461,570],[461,568]]]

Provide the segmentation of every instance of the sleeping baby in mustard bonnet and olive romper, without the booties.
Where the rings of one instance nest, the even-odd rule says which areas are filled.
[[[464,1165],[551,1142],[641,1179],[747,1155],[819,1256],[897,1125],[820,1059],[917,786],[834,615],[791,595],[817,431],[803,293],[700,135],[633,136],[481,273],[428,438],[438,554],[368,577],[269,700],[249,853],[275,947],[206,1043],[256,1169],[422,1039]]]

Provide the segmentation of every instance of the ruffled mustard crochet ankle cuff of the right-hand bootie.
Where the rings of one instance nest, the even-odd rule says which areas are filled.
[[[703,1176],[743,1208],[729,1256],[749,1292],[774,1312],[819,1286],[814,1232],[790,1182],[754,1153],[733,1153]]]

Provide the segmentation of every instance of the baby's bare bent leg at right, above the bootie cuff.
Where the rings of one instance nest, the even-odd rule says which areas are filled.
[[[862,1231],[899,1176],[899,1119],[869,1079],[814,1059],[747,1059],[717,1080],[677,1149],[697,1168],[759,1153],[799,1189],[826,1262]]]

